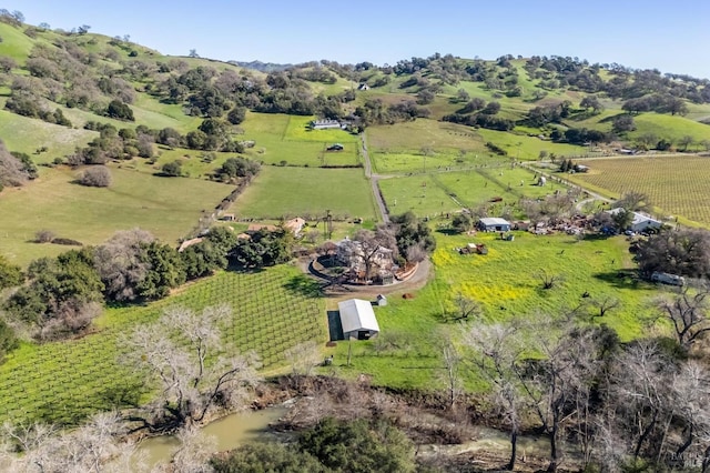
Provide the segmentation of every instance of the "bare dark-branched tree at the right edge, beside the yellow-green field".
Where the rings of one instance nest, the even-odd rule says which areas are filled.
[[[683,288],[672,298],[657,300],[660,316],[671,323],[678,343],[684,351],[689,351],[710,332],[708,295],[710,292],[706,288]]]

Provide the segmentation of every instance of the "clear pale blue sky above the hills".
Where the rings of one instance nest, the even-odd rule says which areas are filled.
[[[165,54],[264,62],[394,64],[435,52],[571,56],[710,78],[702,0],[9,0],[32,24],[81,24]]]

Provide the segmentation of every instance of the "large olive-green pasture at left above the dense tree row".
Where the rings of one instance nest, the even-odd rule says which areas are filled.
[[[80,171],[40,168],[40,178],[0,193],[0,254],[27,264],[70,246],[30,241],[39,230],[99,244],[118,230],[140,227],[175,243],[210,214],[233,187],[183,178],[158,178],[111,168],[110,188],[85,188],[72,181]]]

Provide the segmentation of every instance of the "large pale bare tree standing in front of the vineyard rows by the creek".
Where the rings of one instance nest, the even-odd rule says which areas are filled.
[[[229,316],[226,305],[201,313],[173,308],[125,340],[132,349],[126,362],[161,388],[158,399],[132,417],[140,422],[136,430],[171,432],[201,422],[214,409],[243,405],[260,380],[258,360],[253,353],[220,354],[224,346],[217,322]]]

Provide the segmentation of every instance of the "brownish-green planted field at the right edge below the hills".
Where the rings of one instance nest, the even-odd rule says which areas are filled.
[[[710,158],[702,157],[636,157],[586,160],[588,173],[569,175],[580,185],[590,183],[620,195],[638,191],[663,214],[682,215],[710,225]]]

